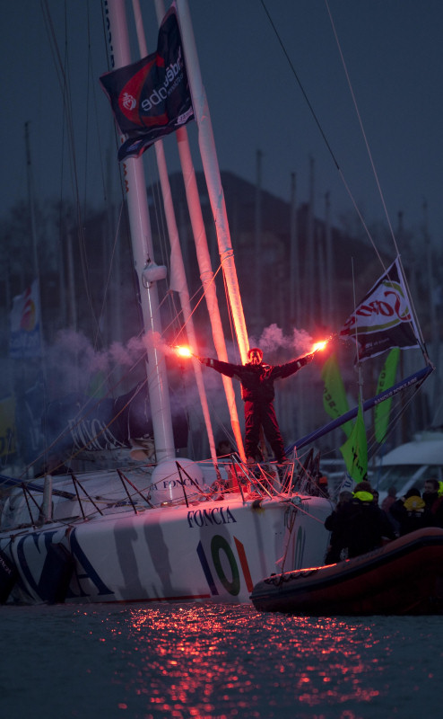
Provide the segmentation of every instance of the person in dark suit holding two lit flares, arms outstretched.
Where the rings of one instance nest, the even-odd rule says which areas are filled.
[[[274,380],[290,377],[314,359],[315,352],[300,359],[293,359],[284,365],[266,365],[263,352],[258,347],[248,351],[245,365],[233,365],[220,359],[199,357],[202,364],[212,367],[227,377],[239,379],[241,396],[245,403],[245,452],[248,463],[263,459],[258,447],[260,427],[263,427],[279,464],[288,461],[284,454],[282,433],[274,410]]]

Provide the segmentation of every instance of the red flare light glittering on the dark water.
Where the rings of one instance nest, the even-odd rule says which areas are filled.
[[[115,684],[125,689],[120,706],[131,711],[132,701],[143,701],[144,719],[253,719],[264,706],[269,717],[293,706],[298,719],[303,709],[320,719],[326,707],[342,706],[341,719],[357,719],[380,695],[380,647],[363,622],[260,614],[245,605],[132,608],[125,619]]]

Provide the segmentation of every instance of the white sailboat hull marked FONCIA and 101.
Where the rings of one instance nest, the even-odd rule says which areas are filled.
[[[248,602],[263,577],[323,564],[330,510],[318,497],[231,493],[8,530],[0,550],[16,578],[7,601]],[[62,574],[60,557],[48,554],[58,545],[69,564]],[[57,590],[66,571],[68,585]]]

